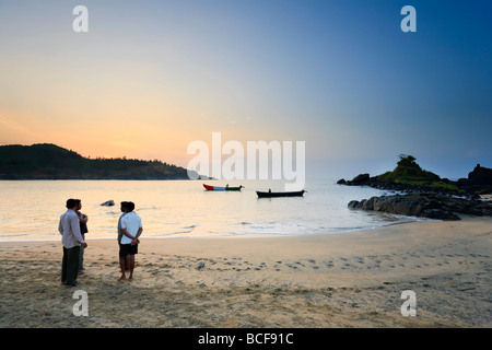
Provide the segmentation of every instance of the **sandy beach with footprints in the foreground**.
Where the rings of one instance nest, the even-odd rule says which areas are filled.
[[[91,240],[60,285],[61,243],[0,243],[0,327],[491,327],[492,218],[343,234],[141,237],[132,281]],[[199,269],[200,264],[203,267]],[[89,295],[74,316],[73,292]],[[417,298],[405,317],[402,291]]]

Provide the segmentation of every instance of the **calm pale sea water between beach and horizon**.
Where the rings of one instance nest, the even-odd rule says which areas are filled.
[[[412,219],[353,211],[350,200],[384,191],[307,182],[304,197],[261,198],[255,190],[283,190],[281,182],[232,180],[242,191],[206,191],[202,180],[0,182],[0,241],[59,241],[58,219],[67,198],[82,199],[86,238],[115,238],[119,202],[133,201],[143,235],[152,237],[336,233]],[[225,186],[225,182],[206,182]],[[115,207],[101,203],[113,199]]]

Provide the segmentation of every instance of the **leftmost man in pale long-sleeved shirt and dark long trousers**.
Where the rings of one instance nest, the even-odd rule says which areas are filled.
[[[67,200],[67,211],[60,217],[58,231],[61,234],[61,243],[63,244],[63,258],[61,260],[61,283],[67,287],[78,284],[77,276],[80,262],[80,246],[84,248],[87,244],[84,242],[80,233],[79,217],[75,213],[77,200]]]

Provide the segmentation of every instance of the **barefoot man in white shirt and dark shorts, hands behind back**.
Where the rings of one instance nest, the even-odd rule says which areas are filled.
[[[127,214],[121,218],[121,242],[119,245],[119,266],[121,268],[120,281],[126,280],[125,262],[130,270],[129,280],[133,278],[134,255],[138,254],[139,237],[142,234],[142,220],[133,211],[134,203],[127,202]]]

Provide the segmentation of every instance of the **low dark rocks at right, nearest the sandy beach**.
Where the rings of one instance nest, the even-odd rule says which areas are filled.
[[[492,202],[434,192],[372,197],[361,201],[352,200],[348,207],[437,220],[460,220],[458,214],[492,215]]]

